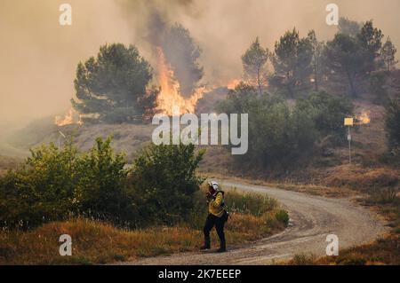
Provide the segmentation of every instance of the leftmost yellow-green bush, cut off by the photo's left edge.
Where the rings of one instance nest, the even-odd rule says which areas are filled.
[[[0,221],[5,226],[36,226],[74,211],[76,149],[42,146],[25,166],[0,179]]]

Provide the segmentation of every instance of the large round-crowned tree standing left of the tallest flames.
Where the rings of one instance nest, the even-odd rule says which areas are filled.
[[[148,89],[152,68],[136,47],[122,43],[100,47],[97,57],[79,63],[72,106],[100,122],[142,118],[156,107],[157,90]]]

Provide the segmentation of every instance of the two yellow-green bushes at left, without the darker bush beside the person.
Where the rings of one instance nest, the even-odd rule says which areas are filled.
[[[98,138],[85,154],[72,141],[32,150],[22,169],[0,178],[1,225],[26,229],[76,214],[127,217],[124,155],[114,154],[110,142]]]

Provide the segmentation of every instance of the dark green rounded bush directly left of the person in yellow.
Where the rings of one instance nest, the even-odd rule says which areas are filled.
[[[196,168],[204,152],[195,145],[149,145],[134,161],[129,183],[144,224],[174,224],[190,216],[193,195],[203,183]]]

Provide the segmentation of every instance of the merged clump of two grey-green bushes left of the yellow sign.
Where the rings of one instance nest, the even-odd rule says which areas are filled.
[[[249,114],[249,150],[236,156],[238,163],[287,168],[304,161],[319,138],[330,136],[337,144],[346,130],[343,119],[353,107],[348,98],[324,91],[289,106],[276,96],[260,98],[254,87],[241,83],[229,91],[218,110]]]

